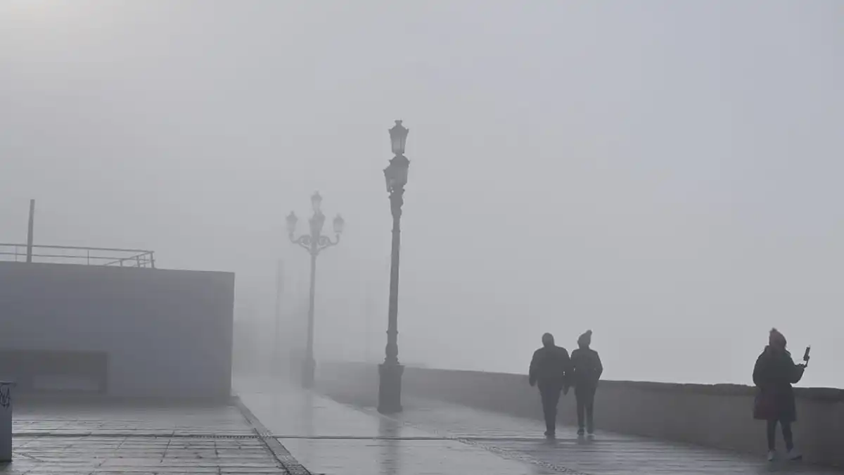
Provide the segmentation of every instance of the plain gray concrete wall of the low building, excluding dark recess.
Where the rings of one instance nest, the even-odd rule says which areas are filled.
[[[234,274],[0,262],[0,349],[108,354],[110,396],[230,394]]]

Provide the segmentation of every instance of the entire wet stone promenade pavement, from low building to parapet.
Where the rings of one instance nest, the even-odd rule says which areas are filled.
[[[259,379],[227,407],[16,407],[14,462],[0,473],[308,475],[841,473],[621,434],[560,428],[405,397],[395,417]]]

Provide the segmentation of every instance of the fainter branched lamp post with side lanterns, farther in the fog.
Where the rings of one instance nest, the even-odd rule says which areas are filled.
[[[340,242],[340,234],[343,233],[345,221],[343,217],[337,215],[334,218],[334,235],[335,240],[322,235],[322,226],[325,224],[325,215],[322,214],[322,196],[317,191],[311,196],[311,208],[313,209],[313,216],[308,222],[311,225],[311,232],[303,234],[299,238],[295,237],[296,223],[299,218],[293,211],[287,216],[287,232],[290,237],[290,242],[299,244],[302,248],[311,254],[311,296],[308,305],[308,340],[305,354],[305,361],[302,363],[302,385],[306,388],[313,387],[314,373],[317,369],[317,362],[314,360],[314,295],[317,286],[317,255],[322,252],[324,248],[336,246]]]

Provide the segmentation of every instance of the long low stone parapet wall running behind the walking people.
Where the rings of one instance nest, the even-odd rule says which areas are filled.
[[[376,401],[377,368],[357,363],[320,367],[320,387],[349,402]],[[521,374],[407,368],[405,394],[527,418],[542,418],[537,390]],[[844,466],[844,390],[798,388],[795,441],[807,461]],[[743,385],[679,385],[602,381],[595,424],[639,434],[748,453],[766,451],[765,426],[752,418],[755,389]],[[560,400],[560,423],[576,424],[573,392]],[[778,437],[781,435],[778,434]],[[782,439],[779,439],[782,446]]]

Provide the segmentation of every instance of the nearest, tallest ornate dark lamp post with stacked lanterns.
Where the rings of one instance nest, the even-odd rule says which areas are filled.
[[[398,363],[398,254],[401,247],[402,205],[404,185],[408,183],[410,161],[404,156],[404,144],[408,139],[407,128],[402,121],[390,129],[393,157],[384,169],[387,179],[387,193],[390,194],[392,210],[392,259],[390,266],[390,307],[387,318],[387,356],[378,367],[378,412],[392,414],[402,411],[402,373],[404,367]]]

